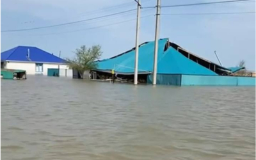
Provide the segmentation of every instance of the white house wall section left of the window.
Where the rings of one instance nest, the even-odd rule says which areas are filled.
[[[36,65],[35,63],[23,63],[23,62],[6,62],[5,68],[7,69],[20,69],[26,70],[27,74],[35,74]]]

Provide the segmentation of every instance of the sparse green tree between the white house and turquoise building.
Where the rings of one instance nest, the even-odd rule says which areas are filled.
[[[67,58],[68,67],[74,68],[83,77],[84,71],[97,68],[95,61],[99,60],[102,51],[100,45],[93,45],[89,48],[82,45],[74,53],[76,54],[74,59]]]

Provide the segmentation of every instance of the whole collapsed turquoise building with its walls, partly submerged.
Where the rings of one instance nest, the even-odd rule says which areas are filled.
[[[120,81],[132,82],[135,48],[106,60],[100,60],[92,70],[93,79],[111,79],[112,70]],[[154,42],[139,47],[138,81],[152,83]],[[170,85],[255,85],[255,77],[232,76],[241,68],[226,68],[186,51],[168,38],[159,40],[157,84]]]

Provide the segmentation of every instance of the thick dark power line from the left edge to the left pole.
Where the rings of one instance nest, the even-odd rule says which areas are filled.
[[[109,14],[109,15],[103,15],[103,16],[100,16],[100,17],[92,18],[92,19],[77,20],[77,21],[74,21],[74,22],[67,22],[67,23],[56,24],[56,25],[51,25],[51,26],[44,26],[44,27],[38,27],[38,28],[5,30],[5,31],[1,31],[1,33],[17,32],[17,31],[29,31],[29,30],[35,30],[35,29],[43,29],[43,28],[53,28],[53,27],[58,27],[58,26],[65,26],[65,25],[68,25],[68,24],[76,24],[76,23],[79,23],[79,22],[85,22],[85,21],[89,21],[89,20],[101,19],[101,18],[104,18],[104,17],[110,17],[110,16],[113,16],[113,15],[118,15],[118,14],[122,14],[122,13],[132,12],[134,10],[136,10],[136,9],[126,10],[124,12],[112,13],[112,14]]]

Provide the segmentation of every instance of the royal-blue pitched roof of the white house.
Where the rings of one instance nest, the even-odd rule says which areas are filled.
[[[29,49],[29,58],[28,58]],[[48,63],[65,63],[66,61],[45,52],[37,47],[18,46],[8,51],[1,52],[1,61],[33,61]]]

